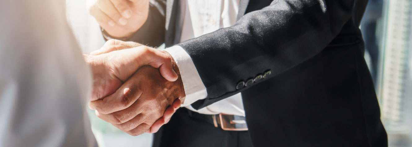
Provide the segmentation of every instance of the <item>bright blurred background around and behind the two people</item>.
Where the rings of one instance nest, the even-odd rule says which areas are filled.
[[[86,0],[66,0],[68,23],[83,52],[105,42]],[[412,147],[412,0],[369,0],[361,30],[389,147]],[[101,147],[150,147],[152,134],[133,137],[87,109]]]

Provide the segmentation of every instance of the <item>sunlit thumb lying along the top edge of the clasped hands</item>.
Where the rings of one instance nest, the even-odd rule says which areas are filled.
[[[136,42],[124,42],[122,40],[115,40],[115,39],[111,39],[108,40],[103,47],[101,47],[100,49],[96,50],[96,51],[92,51],[90,53],[90,55],[100,55],[100,54],[105,54],[105,53],[109,53],[112,51],[117,51],[117,50],[121,50],[121,49],[129,49],[129,48],[133,48],[133,47],[138,47],[138,46],[142,46],[142,44],[136,43]]]

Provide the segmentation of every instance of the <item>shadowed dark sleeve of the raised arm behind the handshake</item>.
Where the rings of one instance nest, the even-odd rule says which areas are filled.
[[[146,22],[139,30],[130,37],[111,37],[105,30],[102,30],[105,40],[117,39],[123,41],[133,41],[147,46],[159,47],[164,43],[165,32],[166,0],[150,0],[149,15]]]

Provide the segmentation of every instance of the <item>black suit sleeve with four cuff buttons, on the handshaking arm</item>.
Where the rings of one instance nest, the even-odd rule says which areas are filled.
[[[238,90],[239,82],[270,70],[261,81],[267,80],[315,56],[351,19],[355,2],[274,0],[232,27],[178,44],[192,58],[207,91],[192,106],[206,107],[250,87]]]

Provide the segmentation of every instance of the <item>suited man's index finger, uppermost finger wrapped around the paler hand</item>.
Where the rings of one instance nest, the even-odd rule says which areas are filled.
[[[124,110],[132,105],[143,93],[140,87],[135,85],[135,82],[136,80],[128,80],[112,95],[101,100],[91,101],[90,104],[102,114],[110,114]]]

